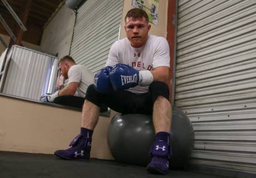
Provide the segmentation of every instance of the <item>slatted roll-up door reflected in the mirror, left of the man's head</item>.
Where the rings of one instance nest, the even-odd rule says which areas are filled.
[[[123,1],[87,0],[78,8],[70,55],[92,72],[104,67],[119,39]]]

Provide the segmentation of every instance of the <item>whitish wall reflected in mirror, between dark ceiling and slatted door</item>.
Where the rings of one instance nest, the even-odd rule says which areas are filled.
[[[61,6],[43,31],[41,48],[43,52],[56,55],[58,58],[68,55],[72,40],[75,12]]]

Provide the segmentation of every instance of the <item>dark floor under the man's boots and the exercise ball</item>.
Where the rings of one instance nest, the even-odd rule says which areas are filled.
[[[58,159],[54,155],[0,151],[0,177],[224,178],[225,176],[185,170],[170,170],[168,175],[152,175],[145,167],[120,164],[110,160],[68,161]]]

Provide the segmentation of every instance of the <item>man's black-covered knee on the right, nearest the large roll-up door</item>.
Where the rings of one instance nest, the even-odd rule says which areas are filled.
[[[157,97],[159,96],[163,96],[169,100],[169,86],[165,82],[152,82],[149,86],[149,92],[152,98],[152,103],[155,103]]]

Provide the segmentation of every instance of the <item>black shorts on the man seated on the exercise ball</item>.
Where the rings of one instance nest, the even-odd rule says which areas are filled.
[[[112,110],[120,113],[144,113],[151,114],[156,98],[164,96],[169,100],[169,87],[164,82],[152,82],[149,92],[136,94],[127,90],[115,93],[99,93],[93,85],[90,85],[86,92],[85,99],[101,106],[104,103]]]

